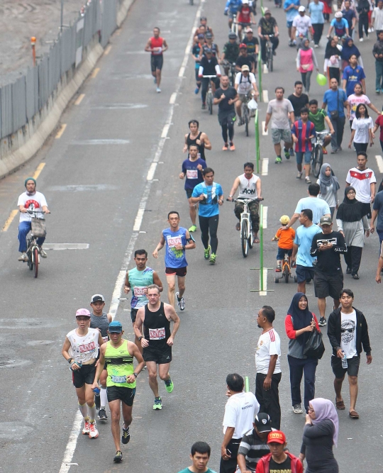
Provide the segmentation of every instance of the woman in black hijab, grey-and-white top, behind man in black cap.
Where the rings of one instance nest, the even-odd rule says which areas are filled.
[[[370,225],[362,202],[357,201],[355,189],[352,186],[345,188],[345,199],[336,213],[338,231],[345,237],[347,253],[345,262],[346,274],[352,274],[353,279],[359,279],[357,272],[362,259],[362,250],[365,246],[365,235],[370,236]]]

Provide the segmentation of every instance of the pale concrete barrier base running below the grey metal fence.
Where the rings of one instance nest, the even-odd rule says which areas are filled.
[[[121,5],[121,9],[117,13],[118,28],[125,20],[134,1],[125,0]],[[84,84],[84,81],[94,69],[103,53],[104,48],[102,48],[97,39],[87,54],[87,58],[77,72],[75,72],[72,79],[67,84],[58,84],[56,92],[50,96],[48,104],[44,107],[45,116],[44,112],[42,112],[40,120],[38,117],[33,117],[27,126],[1,140],[0,156],[4,155],[4,157],[0,158],[0,179],[25,165],[40,150],[52,131],[55,130],[62,113],[67,108],[74,94]],[[60,87],[62,87],[61,90]],[[13,150],[9,153],[10,148],[13,148]]]

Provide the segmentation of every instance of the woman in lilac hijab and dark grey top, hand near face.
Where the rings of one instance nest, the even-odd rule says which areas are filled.
[[[336,447],[338,443],[338,432],[338,414],[333,403],[321,397],[310,401],[299,455],[302,463],[306,457],[306,473],[339,472],[333,454],[333,445]]]

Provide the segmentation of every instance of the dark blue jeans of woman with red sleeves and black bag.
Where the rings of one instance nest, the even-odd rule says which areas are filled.
[[[315,372],[318,360],[316,358],[294,358],[287,355],[290,367],[290,388],[292,405],[301,404],[301,380],[304,374],[304,407],[309,408],[309,402],[315,397]]]

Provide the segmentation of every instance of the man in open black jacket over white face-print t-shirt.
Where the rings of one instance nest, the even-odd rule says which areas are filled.
[[[366,318],[361,311],[353,307],[353,301],[353,291],[343,289],[340,294],[340,308],[336,308],[328,318],[327,335],[333,347],[331,367],[335,374],[336,408],[341,411],[345,409],[341,390],[347,372],[350,384],[350,412],[348,415],[353,419],[358,419],[359,414],[355,411],[355,404],[362,347],[367,355],[367,365],[372,362],[372,356]],[[344,362],[347,362],[347,367],[343,367]]]

